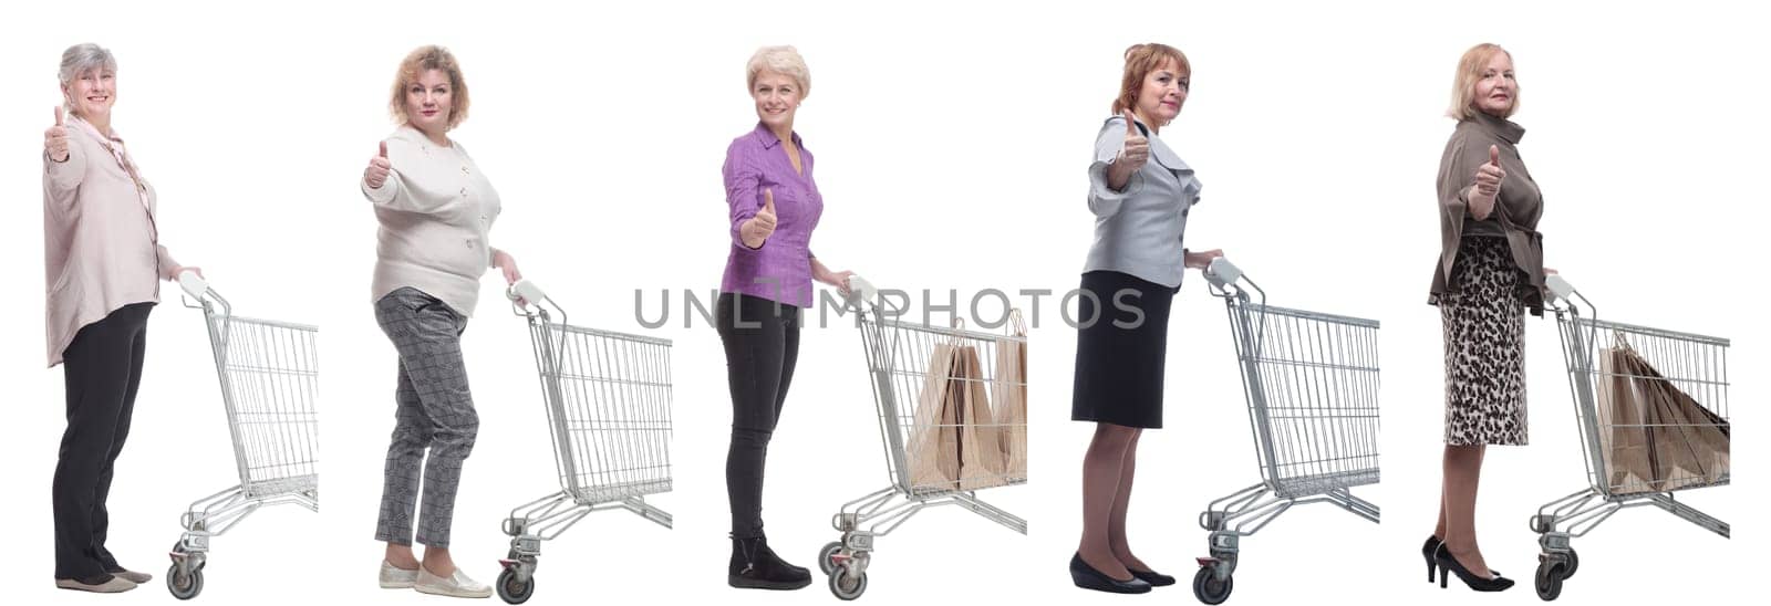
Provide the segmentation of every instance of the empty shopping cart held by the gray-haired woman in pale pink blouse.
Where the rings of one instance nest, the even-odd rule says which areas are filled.
[[[204,310],[239,468],[239,486],[197,500],[179,519],[184,535],[172,546],[166,588],[191,599],[204,590],[211,537],[266,505],[319,512],[319,330],[234,315],[193,271],[179,275],[179,287],[184,307]]]

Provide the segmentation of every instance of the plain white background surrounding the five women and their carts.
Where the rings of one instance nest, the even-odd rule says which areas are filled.
[[[1179,46],[1194,87],[1164,140],[1199,170],[1194,248],[1222,246],[1272,301],[1383,321],[1385,482],[1360,491],[1374,526],[1296,509],[1243,542],[1234,604],[1477,601],[1420,583],[1417,548],[1436,514],[1442,361],[1426,307],[1438,253],[1433,179],[1452,122],[1442,117],[1463,50],[1512,50],[1544,190],[1551,268],[1608,317],[1734,338],[1732,413],[1746,420],[1739,486],[1690,501],[1757,537],[1746,507],[1764,493],[1752,436],[1766,390],[1759,264],[1766,85],[1762,16],[1734,4],[1195,4],[1084,9],[1020,4],[655,4],[554,9],[514,2],[326,7],[37,5],[0,25],[0,255],[16,284],[0,369],[11,392],[0,555],[21,602],[53,592],[50,477],[62,431],[62,374],[43,369],[39,136],[50,126],[60,50],[83,41],[120,60],[115,126],[161,193],[161,236],[207,269],[241,314],[322,326],[326,503],[271,509],[214,540],[204,601],[299,604],[418,601],[374,587],[381,464],[391,429],[393,349],[374,324],[374,218],[356,193],[390,129],[393,67],[418,44],[450,46],[473,112],[453,133],[503,195],[494,243],[547,285],[574,321],[643,331],[675,291],[677,493],[653,501],[662,530],[609,512],[545,546],[537,604],[652,595],[825,602],[804,592],[724,588],[730,546],[723,464],[730,423],[712,328],[684,328],[680,292],[717,287],[726,255],[719,165],[754,124],[744,62],[792,43],[813,85],[797,128],[827,200],[816,252],[882,287],[1004,291],[1075,287],[1091,237],[1084,167],[1132,43]],[[505,512],[554,487],[533,361],[494,275],[464,340],[482,416],[455,510],[457,562],[492,581]],[[1025,305],[1025,301],[1022,301]],[[864,601],[1027,601],[1070,588],[1079,462],[1091,427],[1068,420],[1073,330],[1050,299],[1032,335],[1032,482],[981,493],[1031,521],[1020,537],[958,509],[919,516],[878,542]],[[110,546],[156,574],[115,601],[166,601],[163,548],[177,514],[232,482],[220,395],[200,314],[168,301],[152,317],[147,379],[112,493]],[[1528,322],[1530,438],[1493,448],[1479,532],[1489,563],[1532,601],[1527,516],[1576,491],[1582,462],[1553,321]],[[836,533],[836,505],[886,484],[859,335],[808,330],[770,448],[770,542],[800,565]],[[1220,301],[1188,276],[1176,299],[1167,429],[1142,441],[1133,544],[1190,578],[1204,555],[1194,517],[1257,480]],[[1576,542],[1583,567],[1564,601],[1716,601],[1753,587],[1752,542],[1723,540],[1658,510],[1631,510]],[[1185,583],[1185,581],[1183,581]],[[1054,592],[1054,594],[1047,594]],[[1188,588],[1156,597],[1188,602]],[[1493,601],[1493,599],[1484,599]]]

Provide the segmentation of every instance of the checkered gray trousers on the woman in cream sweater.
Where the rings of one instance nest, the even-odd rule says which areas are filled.
[[[413,544],[413,510],[421,484],[418,542],[448,548],[460,464],[473,452],[480,431],[460,358],[460,333],[468,330],[468,319],[418,289],[402,287],[375,301],[375,322],[400,353],[400,381],[393,392],[398,408],[375,540]],[[425,461],[427,448],[430,461]]]

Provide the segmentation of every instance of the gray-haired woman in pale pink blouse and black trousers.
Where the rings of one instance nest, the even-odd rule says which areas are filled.
[[[152,576],[104,548],[112,471],[142,383],[147,312],[179,266],[159,245],[154,186],[112,129],[117,58],[97,44],[62,53],[62,105],[43,133],[43,252],[50,367],[67,381],[55,464],[55,587],[115,594]]]

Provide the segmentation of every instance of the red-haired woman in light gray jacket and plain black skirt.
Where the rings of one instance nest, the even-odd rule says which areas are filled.
[[[1071,420],[1094,422],[1082,459],[1082,542],[1070,560],[1077,587],[1142,594],[1174,585],[1132,555],[1125,535],[1144,429],[1162,427],[1169,305],[1187,268],[1222,252],[1183,246],[1199,179],[1160,138],[1192,83],[1187,55],[1165,44],[1125,51],[1125,78],[1094,138],[1089,211],[1094,245],[1082,273]],[[1151,161],[1155,159],[1155,161]]]

